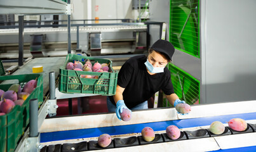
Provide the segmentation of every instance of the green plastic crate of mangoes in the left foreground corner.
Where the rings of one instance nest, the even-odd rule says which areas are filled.
[[[8,91],[11,84],[18,83],[23,88],[29,80],[37,78],[37,87],[24,101],[22,106],[15,106],[10,113],[0,116],[0,151],[15,151],[18,141],[29,125],[29,100],[36,98],[38,105],[43,103],[43,75],[6,75],[0,76],[0,89]]]

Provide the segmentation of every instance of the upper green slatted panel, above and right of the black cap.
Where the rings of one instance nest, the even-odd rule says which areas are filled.
[[[199,57],[199,0],[170,1],[170,42],[180,51]]]

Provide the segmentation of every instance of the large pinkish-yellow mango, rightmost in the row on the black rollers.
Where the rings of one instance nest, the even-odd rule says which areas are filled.
[[[247,129],[247,123],[241,118],[232,118],[229,120],[228,124],[232,130],[244,131]]]

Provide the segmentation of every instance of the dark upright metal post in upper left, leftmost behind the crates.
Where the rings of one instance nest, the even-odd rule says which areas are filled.
[[[23,65],[24,60],[24,15],[18,16],[18,66]]]

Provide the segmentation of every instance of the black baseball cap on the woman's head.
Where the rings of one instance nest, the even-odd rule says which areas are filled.
[[[159,39],[158,41],[154,42],[151,48],[154,49],[154,51],[165,53],[169,57],[169,59],[172,60],[172,55],[175,50],[172,43],[163,39]]]

